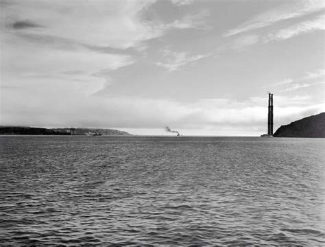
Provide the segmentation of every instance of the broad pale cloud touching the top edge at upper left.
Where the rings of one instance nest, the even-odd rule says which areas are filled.
[[[3,10],[1,21],[17,19],[46,27],[21,28],[25,34],[57,36],[76,43],[127,49],[144,40],[160,36],[151,23],[143,21],[141,11],[154,1],[14,1]],[[40,14],[42,13],[42,14]],[[82,13],[82,14],[80,14]],[[22,26],[21,23],[20,26]]]

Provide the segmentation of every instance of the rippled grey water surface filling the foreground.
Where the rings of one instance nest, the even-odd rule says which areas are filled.
[[[324,139],[0,137],[1,244],[325,244]]]

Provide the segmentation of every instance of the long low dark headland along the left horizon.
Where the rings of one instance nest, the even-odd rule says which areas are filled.
[[[128,132],[101,128],[75,128],[76,135],[92,135],[100,133],[102,135],[130,136]],[[34,128],[34,127],[1,127],[0,134],[32,134],[32,135],[70,135],[70,128]]]

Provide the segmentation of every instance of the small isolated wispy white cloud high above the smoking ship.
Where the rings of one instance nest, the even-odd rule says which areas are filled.
[[[177,71],[191,62],[206,58],[210,55],[189,56],[188,52],[176,52],[170,49],[163,49],[165,62],[156,62],[157,66],[165,67],[168,71]]]

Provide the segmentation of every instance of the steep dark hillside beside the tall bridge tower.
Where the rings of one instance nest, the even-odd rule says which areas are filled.
[[[325,137],[325,113],[281,126],[274,133],[274,137]]]

